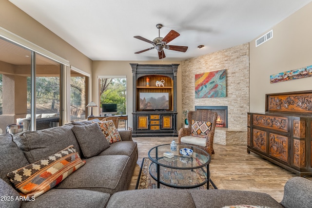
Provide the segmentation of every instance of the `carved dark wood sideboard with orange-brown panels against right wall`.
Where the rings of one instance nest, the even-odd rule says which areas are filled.
[[[312,91],[267,94],[266,113],[248,113],[247,126],[248,153],[312,175]]]

